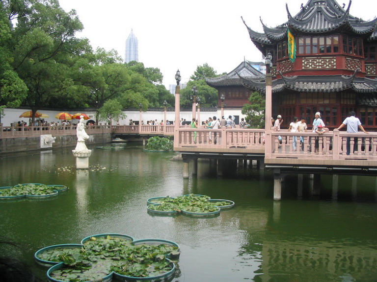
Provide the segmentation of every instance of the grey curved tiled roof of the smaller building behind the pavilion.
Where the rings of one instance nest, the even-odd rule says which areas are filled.
[[[219,77],[205,78],[209,86],[241,86],[242,81],[239,77],[250,79],[264,79],[264,74],[253,68],[247,61],[243,61],[236,69]]]

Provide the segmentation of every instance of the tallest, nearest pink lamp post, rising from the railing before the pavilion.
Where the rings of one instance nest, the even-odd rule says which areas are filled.
[[[266,56],[266,109],[265,109],[265,156],[271,157],[271,117],[272,117],[272,55],[269,52]]]

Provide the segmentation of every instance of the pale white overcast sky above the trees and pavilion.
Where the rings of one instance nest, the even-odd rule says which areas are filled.
[[[187,82],[196,67],[208,63],[217,73],[233,71],[245,58],[262,61],[261,52],[249,38],[245,25],[263,32],[285,23],[287,12],[296,15],[306,0],[59,0],[65,11],[75,9],[84,25],[77,34],[92,47],[115,49],[124,59],[126,39],[133,29],[138,57],[146,68],[159,68],[163,84],[176,84],[181,71]],[[342,5],[348,1],[338,0]],[[377,16],[374,0],[353,0],[350,14],[363,20]]]

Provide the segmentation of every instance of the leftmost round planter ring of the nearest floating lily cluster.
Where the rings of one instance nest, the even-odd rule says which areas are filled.
[[[81,244],[59,244],[42,248],[35,252],[34,258],[37,263],[43,266],[52,266],[61,262],[61,258],[55,256],[59,254],[70,254],[72,249],[81,249]],[[57,254],[56,254],[57,255]],[[50,260],[49,260],[50,259]]]

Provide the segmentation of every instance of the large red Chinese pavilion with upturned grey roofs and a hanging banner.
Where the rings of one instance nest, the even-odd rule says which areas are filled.
[[[377,130],[377,19],[350,15],[351,0],[309,0],[295,16],[288,4],[286,10],[288,22],[262,22],[263,33],[243,22],[262,54],[272,54],[273,115],[287,127],[294,116],[310,122],[321,112],[334,128],[354,110],[364,127]],[[250,91],[265,92],[264,80],[240,78]]]

